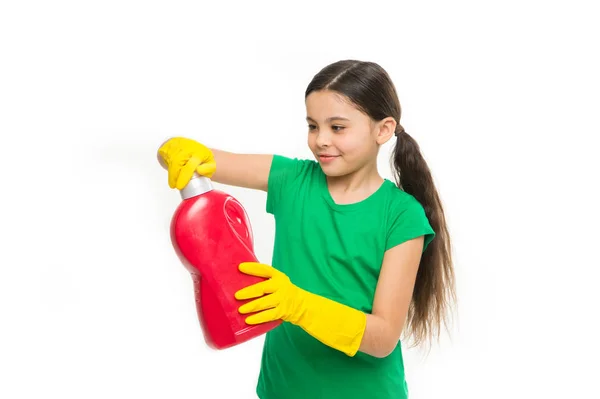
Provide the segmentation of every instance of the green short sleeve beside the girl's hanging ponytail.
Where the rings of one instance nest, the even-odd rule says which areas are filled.
[[[403,242],[414,238],[425,236],[423,252],[433,241],[435,232],[429,224],[423,206],[415,199],[407,201],[402,207],[398,207],[396,216],[391,220],[386,240],[386,251]]]

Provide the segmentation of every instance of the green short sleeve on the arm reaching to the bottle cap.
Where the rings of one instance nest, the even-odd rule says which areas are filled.
[[[266,211],[272,215],[277,213],[284,195],[289,195],[293,184],[306,173],[310,162],[298,158],[273,155],[267,185]]]

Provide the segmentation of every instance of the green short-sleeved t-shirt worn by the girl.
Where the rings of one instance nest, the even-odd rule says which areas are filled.
[[[370,313],[384,253],[434,232],[423,207],[390,180],[367,199],[340,205],[312,160],[275,155],[267,212],[275,217],[272,265],[297,286]],[[261,399],[401,399],[408,397],[401,344],[379,359],[349,357],[283,323],[265,336]]]

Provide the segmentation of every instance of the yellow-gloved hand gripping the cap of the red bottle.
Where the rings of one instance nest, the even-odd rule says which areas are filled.
[[[197,141],[173,137],[158,149],[159,160],[169,172],[169,187],[181,190],[192,179],[194,172],[212,177],[217,168],[212,151]]]

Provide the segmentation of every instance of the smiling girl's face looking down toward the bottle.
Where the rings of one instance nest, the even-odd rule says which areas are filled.
[[[376,164],[379,145],[389,139],[385,132],[381,134],[381,122],[332,91],[309,94],[306,113],[308,146],[328,176],[344,176]]]

